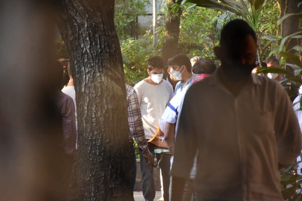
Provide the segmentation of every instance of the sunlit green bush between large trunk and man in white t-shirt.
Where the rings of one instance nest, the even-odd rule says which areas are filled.
[[[148,77],[146,62],[154,55],[151,41],[127,39],[120,41],[126,84],[134,86]]]

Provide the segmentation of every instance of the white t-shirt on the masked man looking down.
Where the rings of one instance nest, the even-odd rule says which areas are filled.
[[[134,89],[140,103],[145,137],[152,139],[159,125],[158,120],[173,97],[172,85],[165,80],[159,85],[151,85],[142,80]]]

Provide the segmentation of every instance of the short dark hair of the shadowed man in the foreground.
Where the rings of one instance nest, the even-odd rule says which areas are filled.
[[[235,42],[242,41],[246,36],[251,35],[257,43],[257,36],[255,31],[249,24],[240,19],[236,19],[227,23],[220,34],[220,46],[230,49]]]

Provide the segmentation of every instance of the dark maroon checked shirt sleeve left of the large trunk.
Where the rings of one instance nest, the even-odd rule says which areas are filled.
[[[63,92],[62,92],[63,94]],[[62,128],[63,128],[63,146],[64,152],[68,155],[76,154],[76,116],[73,100],[68,95],[60,96]],[[66,98],[66,97],[67,98]]]

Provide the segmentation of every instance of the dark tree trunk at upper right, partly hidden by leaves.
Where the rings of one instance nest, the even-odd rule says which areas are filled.
[[[289,13],[298,13],[301,11],[300,8],[298,8],[298,3],[300,3],[300,0],[282,0],[281,1],[281,11],[282,16],[284,14]],[[286,37],[288,35],[294,34],[295,32],[299,31],[299,17],[298,16],[291,16],[286,18],[282,25],[281,25],[281,34],[283,37]],[[287,44],[288,41],[285,42]],[[294,46],[296,46],[298,43],[297,39],[291,39],[288,43],[288,46],[286,48],[286,51],[292,49]],[[292,49],[289,51],[290,54],[294,55],[297,51]],[[287,61],[290,62],[290,61]],[[290,62],[291,63],[291,62]],[[290,66],[285,67],[287,70],[294,72],[294,69]],[[288,75],[286,76],[288,77]]]

